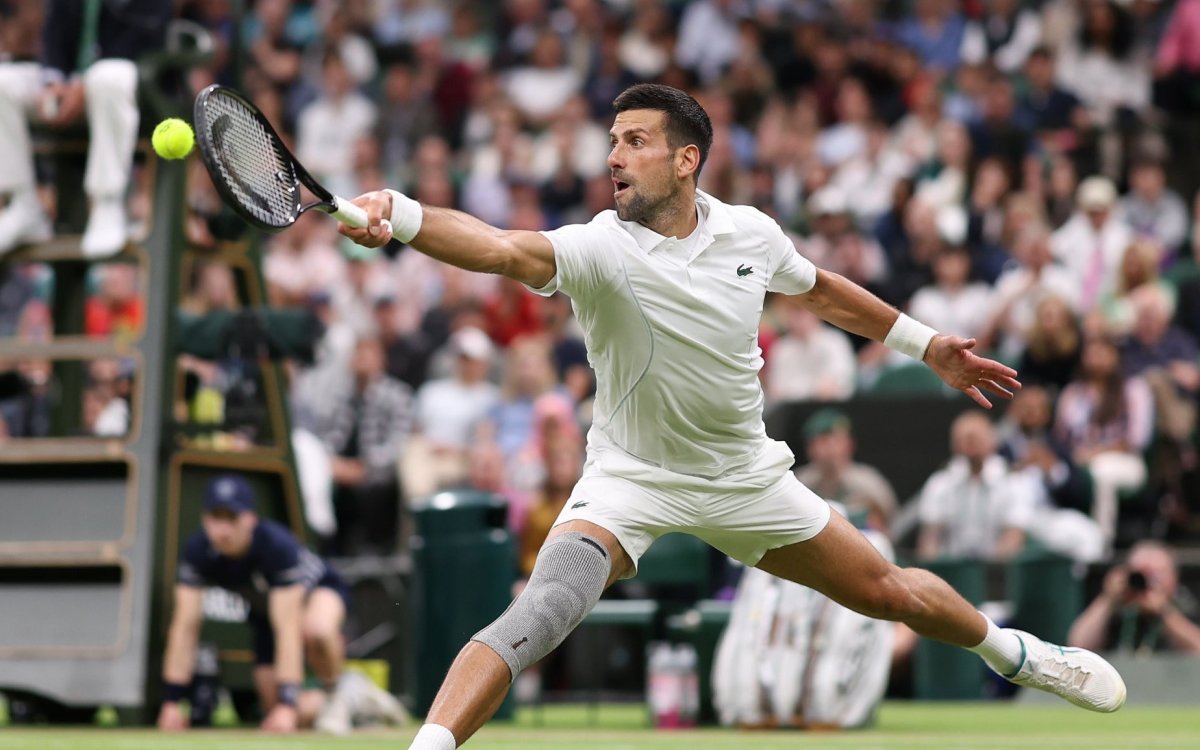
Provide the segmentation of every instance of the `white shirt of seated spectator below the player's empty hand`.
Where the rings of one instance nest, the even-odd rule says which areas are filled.
[[[1006,529],[1028,529],[1040,492],[1030,474],[1009,470],[1000,456],[984,461],[978,476],[956,456],[922,488],[920,522],[942,528],[946,557],[988,559]]]

